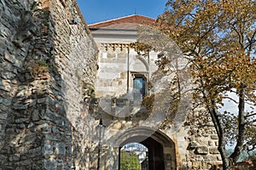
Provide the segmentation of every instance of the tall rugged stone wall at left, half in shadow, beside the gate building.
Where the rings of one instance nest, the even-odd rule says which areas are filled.
[[[88,169],[97,49],[77,3],[0,9],[0,169]]]

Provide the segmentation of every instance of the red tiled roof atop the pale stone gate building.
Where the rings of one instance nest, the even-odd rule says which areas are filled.
[[[124,30],[133,30],[137,29],[138,25],[145,24],[151,25],[154,24],[155,20],[143,15],[132,14],[129,16],[106,20],[98,22],[95,24],[90,24],[89,28],[106,28],[106,29],[124,29]]]

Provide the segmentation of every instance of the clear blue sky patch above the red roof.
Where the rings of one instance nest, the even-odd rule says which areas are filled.
[[[165,10],[167,0],[77,0],[87,24],[111,20],[130,14],[156,19]]]

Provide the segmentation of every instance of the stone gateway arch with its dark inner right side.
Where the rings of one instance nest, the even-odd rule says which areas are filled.
[[[119,149],[125,144],[134,142],[145,145],[148,148],[149,170],[177,168],[175,144],[160,130],[155,131],[149,127],[131,128],[120,134],[116,142],[119,144]]]

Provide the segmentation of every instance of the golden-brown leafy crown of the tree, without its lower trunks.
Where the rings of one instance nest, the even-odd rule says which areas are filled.
[[[255,88],[256,63],[250,56],[255,44],[248,48],[255,39],[255,2],[170,0],[167,7],[165,20],[172,20],[173,26],[163,30],[189,56],[195,83],[209,98],[220,102],[221,93],[241,84],[247,85],[247,92]]]

